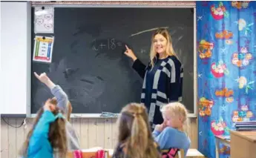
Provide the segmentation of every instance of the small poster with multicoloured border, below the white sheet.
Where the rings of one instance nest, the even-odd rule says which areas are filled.
[[[33,50],[33,62],[52,61],[54,37],[36,36]]]

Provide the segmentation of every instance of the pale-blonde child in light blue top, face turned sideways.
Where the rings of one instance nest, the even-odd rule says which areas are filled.
[[[164,122],[156,125],[153,136],[159,143],[161,150],[169,148],[182,148],[185,155],[190,146],[188,138],[188,111],[180,102],[172,102],[161,109]]]

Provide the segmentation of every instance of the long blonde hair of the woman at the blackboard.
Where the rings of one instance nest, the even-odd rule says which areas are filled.
[[[150,50],[151,68],[153,68],[154,59],[157,56],[157,51],[154,49],[154,36],[156,36],[157,34],[164,36],[165,39],[167,40],[165,53],[168,56],[177,56],[176,53],[174,52],[174,47],[172,47],[172,39],[171,39],[170,33],[168,32],[168,30],[166,28],[159,28],[153,33],[152,38],[151,38],[151,50]]]

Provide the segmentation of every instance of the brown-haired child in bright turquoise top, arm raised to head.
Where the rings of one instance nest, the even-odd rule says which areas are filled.
[[[66,157],[67,151],[65,117],[56,107],[56,99],[47,99],[19,154],[23,158],[53,158]]]

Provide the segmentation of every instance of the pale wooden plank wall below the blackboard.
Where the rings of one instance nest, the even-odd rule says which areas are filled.
[[[4,118],[10,125],[18,127],[22,124],[22,118]],[[1,118],[1,157],[18,157],[18,151],[27,132],[31,127],[32,119],[26,119],[27,127],[13,128],[7,125]],[[71,119],[73,127],[79,135],[82,148],[102,146],[114,148],[116,144],[116,119]],[[191,119],[189,136],[191,148],[197,148],[197,119]]]

